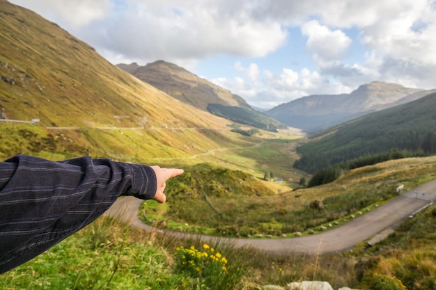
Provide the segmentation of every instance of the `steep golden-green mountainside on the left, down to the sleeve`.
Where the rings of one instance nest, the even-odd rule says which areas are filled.
[[[228,124],[139,81],[57,24],[4,0],[0,1],[0,112],[2,121],[8,121],[0,123],[1,157],[93,154],[144,161],[153,156],[191,156],[216,145],[226,132],[208,137],[198,130],[180,134],[181,129],[212,132]],[[31,127],[11,122],[32,119],[39,122]],[[224,140],[230,138],[219,142],[225,145]]]

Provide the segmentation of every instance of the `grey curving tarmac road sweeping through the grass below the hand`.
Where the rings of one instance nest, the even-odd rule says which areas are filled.
[[[351,220],[341,227],[336,227],[320,234],[299,238],[242,239],[171,231],[164,231],[162,234],[181,239],[196,239],[208,243],[219,241],[219,243],[229,243],[238,248],[251,247],[276,255],[286,255],[290,253],[322,255],[348,250],[361,241],[371,239],[384,229],[396,227],[405,219],[416,214],[417,211],[423,209],[435,200],[436,180],[433,180],[411,191],[407,191],[398,198],[387,202],[363,216]],[[157,229],[146,225],[139,219],[139,206],[141,202],[142,200],[133,197],[118,198],[105,215],[122,220],[132,227],[151,232],[157,231]]]

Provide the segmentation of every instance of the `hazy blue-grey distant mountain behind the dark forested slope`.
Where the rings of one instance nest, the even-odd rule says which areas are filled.
[[[359,86],[350,94],[311,95],[295,99],[266,111],[265,115],[290,127],[313,133],[373,111],[419,99],[430,92],[433,91],[374,81]]]

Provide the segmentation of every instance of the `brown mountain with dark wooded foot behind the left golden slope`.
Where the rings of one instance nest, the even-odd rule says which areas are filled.
[[[234,95],[229,90],[202,79],[173,63],[155,61],[145,66],[137,63],[118,64],[117,66],[181,102],[233,122],[270,131],[287,127],[277,120],[255,111],[242,97]]]

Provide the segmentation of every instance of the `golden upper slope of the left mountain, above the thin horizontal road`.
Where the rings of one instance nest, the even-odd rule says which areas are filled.
[[[56,24],[0,3],[0,106],[8,119],[59,127],[222,124],[111,65]]]

